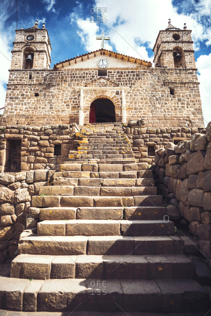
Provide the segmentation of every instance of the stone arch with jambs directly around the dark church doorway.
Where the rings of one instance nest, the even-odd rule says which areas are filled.
[[[96,99],[109,99],[115,107],[115,114],[116,114],[116,122],[122,122],[122,106],[121,101],[116,95],[116,91],[105,91],[103,89],[101,90],[93,90],[92,92],[86,92],[84,91],[84,123],[87,124],[89,122],[89,111],[90,111],[90,105],[92,102],[94,102]]]

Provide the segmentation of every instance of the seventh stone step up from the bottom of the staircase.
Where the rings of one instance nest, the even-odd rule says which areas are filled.
[[[156,187],[94,187],[94,186],[46,186],[39,189],[39,195],[77,196],[134,196],[155,195]]]

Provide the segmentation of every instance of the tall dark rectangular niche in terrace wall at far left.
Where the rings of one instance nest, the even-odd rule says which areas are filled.
[[[20,171],[21,140],[6,140],[4,172]]]

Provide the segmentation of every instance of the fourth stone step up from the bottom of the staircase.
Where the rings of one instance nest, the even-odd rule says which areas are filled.
[[[162,236],[174,234],[173,222],[162,220],[45,220],[37,236]]]

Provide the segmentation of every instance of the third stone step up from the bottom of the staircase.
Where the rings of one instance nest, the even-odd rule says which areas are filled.
[[[29,236],[18,242],[19,253],[40,255],[145,255],[183,253],[177,236]]]

